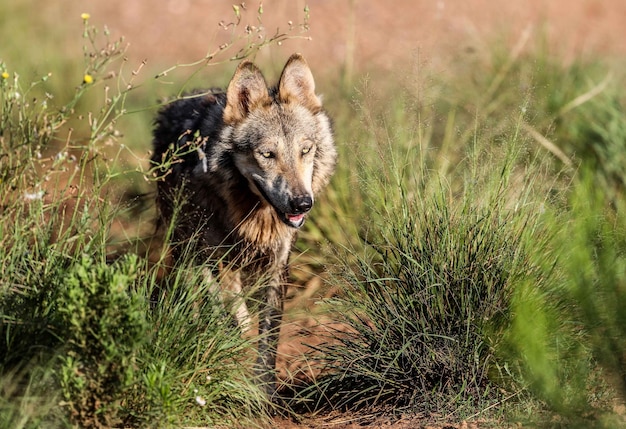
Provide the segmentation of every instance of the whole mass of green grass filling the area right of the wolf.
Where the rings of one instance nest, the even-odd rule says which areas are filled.
[[[541,49],[468,62],[339,112],[350,161],[314,222],[343,327],[296,404],[623,425],[626,94]]]

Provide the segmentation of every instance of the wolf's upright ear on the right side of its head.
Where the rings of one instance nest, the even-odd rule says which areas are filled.
[[[300,54],[293,54],[287,60],[278,81],[278,96],[284,103],[295,102],[317,113],[322,102],[315,95],[315,81],[308,64]]]

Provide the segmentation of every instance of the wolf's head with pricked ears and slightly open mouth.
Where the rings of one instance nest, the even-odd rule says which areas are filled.
[[[329,180],[336,152],[313,75],[292,55],[278,85],[242,62],[228,85],[223,119],[235,166],[287,225],[299,228]]]

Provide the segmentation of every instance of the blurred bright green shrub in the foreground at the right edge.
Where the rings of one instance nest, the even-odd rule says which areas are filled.
[[[615,427],[613,404],[626,398],[626,224],[623,201],[597,179],[582,169],[568,207],[547,217],[554,266],[542,287],[517,288],[506,343],[535,397],[571,424]]]

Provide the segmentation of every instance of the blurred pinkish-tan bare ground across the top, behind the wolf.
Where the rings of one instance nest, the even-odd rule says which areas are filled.
[[[5,1],[0,5],[0,58],[37,73],[57,67],[58,55],[80,52],[81,13],[113,38],[124,36],[131,63],[151,68],[202,58],[224,43],[229,31],[220,22],[234,19],[228,0]],[[303,53],[317,73],[338,70],[392,70],[402,63],[435,64],[464,53],[480,52],[494,38],[514,45],[530,29],[541,32],[564,59],[588,54],[626,53],[626,2],[622,0],[272,0],[245,2],[243,15],[258,25],[264,8],[268,33],[301,23],[309,8],[310,30],[300,38],[258,54],[258,61],[279,63],[293,51]],[[60,49],[62,47],[62,49]],[[16,64],[17,66],[17,64]],[[76,72],[79,76],[80,71]],[[67,76],[68,78],[70,75]]]

